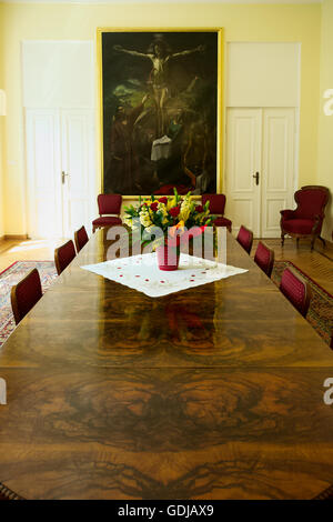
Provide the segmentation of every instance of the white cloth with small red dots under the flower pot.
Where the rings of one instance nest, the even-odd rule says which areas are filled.
[[[155,253],[113,259],[81,267],[111,281],[130,287],[150,298],[160,298],[219,279],[248,272],[248,270],[216,263],[208,259],[181,253],[179,269],[164,272],[159,269]]]

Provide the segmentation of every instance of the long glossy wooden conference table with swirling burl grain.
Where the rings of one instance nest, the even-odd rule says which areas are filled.
[[[333,483],[333,352],[249,272],[151,299],[82,270],[0,354],[0,482],[24,499],[312,499]]]

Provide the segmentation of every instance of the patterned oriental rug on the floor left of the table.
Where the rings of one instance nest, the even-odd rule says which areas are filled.
[[[10,303],[11,287],[34,267],[39,271],[44,292],[57,279],[53,261],[17,261],[0,273],[0,348],[16,328]]]

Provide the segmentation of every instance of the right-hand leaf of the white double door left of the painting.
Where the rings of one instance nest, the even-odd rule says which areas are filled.
[[[65,238],[82,224],[91,231],[94,194],[94,112],[61,111],[62,230]]]

